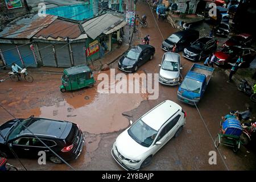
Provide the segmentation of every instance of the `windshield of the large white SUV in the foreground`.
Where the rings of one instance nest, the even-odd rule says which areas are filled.
[[[152,129],[150,126],[146,125],[141,119],[135,122],[133,126],[128,130],[128,134],[133,138],[137,143],[141,144],[144,147],[151,146],[154,141],[158,131]]]

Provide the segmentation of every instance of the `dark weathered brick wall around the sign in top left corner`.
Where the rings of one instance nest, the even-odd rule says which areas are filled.
[[[24,6],[24,0],[21,0],[22,7],[16,9],[7,9],[5,0],[0,0],[0,29],[5,27],[6,23],[11,20],[23,16],[27,13]]]

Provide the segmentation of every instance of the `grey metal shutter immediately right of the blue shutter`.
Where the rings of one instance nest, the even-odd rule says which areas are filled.
[[[50,45],[49,43],[38,42],[38,48],[40,50],[40,55],[41,55],[41,58],[43,61],[43,65],[46,67],[56,67],[57,65],[55,62],[53,49],[52,49],[52,46],[49,46],[49,45]],[[44,48],[46,46],[48,46],[48,47]]]

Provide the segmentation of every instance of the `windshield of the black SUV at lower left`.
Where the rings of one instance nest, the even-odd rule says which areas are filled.
[[[14,139],[18,137],[20,134],[24,133],[26,127],[31,125],[32,120],[33,119],[31,118],[19,120],[19,123],[14,127],[13,131],[11,131],[8,140]],[[23,125],[26,127],[24,127]]]

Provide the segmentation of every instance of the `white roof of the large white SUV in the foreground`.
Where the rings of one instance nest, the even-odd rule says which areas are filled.
[[[158,131],[178,110],[182,110],[180,105],[173,101],[166,100],[148,111],[141,119],[148,126],[152,127],[152,129]]]

